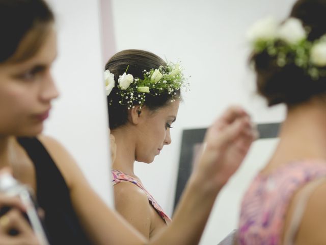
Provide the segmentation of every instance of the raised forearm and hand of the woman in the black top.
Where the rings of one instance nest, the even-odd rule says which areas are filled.
[[[214,122],[173,222],[151,244],[198,244],[216,196],[239,167],[254,137],[249,117],[238,108],[231,108]]]

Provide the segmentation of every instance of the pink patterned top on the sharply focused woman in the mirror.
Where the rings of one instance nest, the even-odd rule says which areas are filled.
[[[126,175],[122,173],[119,170],[113,169],[112,170],[112,183],[113,185],[116,185],[120,182],[131,182],[135,185],[137,185],[139,188],[145,191],[148,201],[150,205],[155,209],[155,211],[159,214],[159,216],[167,223],[169,224],[171,222],[171,218],[163,211],[163,209],[158,205],[158,203],[155,201],[155,199],[152,197],[152,195],[146,190],[144,185],[136,180],[135,178]]]

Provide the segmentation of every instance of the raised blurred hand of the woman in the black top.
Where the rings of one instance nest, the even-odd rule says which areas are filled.
[[[257,138],[250,116],[240,107],[230,107],[207,130],[198,171],[216,188],[224,186],[246,157]],[[213,182],[212,182],[213,181]]]

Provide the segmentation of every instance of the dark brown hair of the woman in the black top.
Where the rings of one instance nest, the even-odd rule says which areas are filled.
[[[43,0],[0,0],[0,64],[33,57],[54,16]]]

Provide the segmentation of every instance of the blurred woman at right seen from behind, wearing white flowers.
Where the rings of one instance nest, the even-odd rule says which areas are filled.
[[[326,1],[299,0],[249,32],[257,87],[287,116],[243,197],[240,244],[326,244]]]

